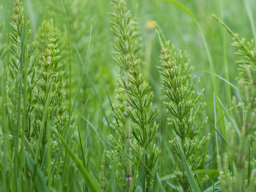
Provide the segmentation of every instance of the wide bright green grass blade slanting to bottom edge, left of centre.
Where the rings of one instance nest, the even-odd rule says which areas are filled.
[[[84,168],[84,165],[81,163],[81,161],[76,157],[75,153],[70,149],[68,144],[64,141],[64,139],[60,136],[57,130],[52,129],[54,133],[59,137],[61,143],[66,149],[66,152],[70,155],[70,157],[73,159],[73,161],[76,163],[77,168],[79,169],[79,172],[83,175],[83,178],[85,180],[86,185],[91,191],[95,192],[102,192],[100,187],[98,186],[97,181],[93,181],[89,173],[87,173],[86,169]]]

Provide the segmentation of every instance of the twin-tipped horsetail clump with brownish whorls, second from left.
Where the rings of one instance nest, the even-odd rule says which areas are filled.
[[[44,50],[42,50],[42,59],[40,61],[40,80],[37,82],[38,91],[36,93],[38,103],[35,105],[36,116],[34,119],[34,128],[37,136],[39,136],[39,141],[41,136],[40,132],[41,129],[43,129],[41,133],[41,158],[43,158],[47,140],[51,139],[51,135],[48,135],[50,134],[50,130],[47,131],[47,128],[55,127],[62,135],[68,123],[68,117],[65,114],[66,107],[62,106],[66,94],[63,91],[65,83],[62,81],[65,63],[60,63],[59,61],[60,50],[57,48],[58,44],[56,43],[54,35],[53,20],[51,20],[52,35],[49,40],[47,40],[45,22],[43,26]],[[44,111],[48,97],[50,101],[47,111]],[[46,114],[44,114],[45,112]],[[44,115],[46,118],[43,122]],[[44,123],[44,125],[42,125],[42,123]],[[49,137],[47,138],[47,136]]]

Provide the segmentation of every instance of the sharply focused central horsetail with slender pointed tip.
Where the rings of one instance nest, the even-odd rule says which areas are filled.
[[[139,60],[135,59],[132,53],[129,34],[127,34],[127,40],[130,52],[128,64],[131,66],[131,69],[129,69],[128,72],[130,74],[127,77],[129,83],[123,83],[122,86],[128,93],[126,101],[134,109],[131,111],[130,108],[126,108],[128,115],[134,121],[134,123],[131,123],[132,134],[138,142],[139,148],[142,148],[142,153],[145,154],[145,164],[148,167],[145,173],[140,173],[140,178],[146,178],[147,180],[147,186],[144,188],[145,185],[143,185],[142,191],[151,191],[152,186],[149,173],[154,167],[161,150],[158,150],[154,143],[151,152],[149,152],[148,147],[155,140],[158,124],[156,124],[156,121],[153,124],[151,122],[159,111],[156,111],[156,107],[152,108],[153,92],[149,93],[151,87],[144,81],[146,75],[140,73]],[[141,155],[141,157],[143,156]],[[141,180],[141,182],[143,183],[144,181]]]

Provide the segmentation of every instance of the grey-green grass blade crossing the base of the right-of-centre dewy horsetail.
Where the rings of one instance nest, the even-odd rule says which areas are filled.
[[[172,130],[172,131],[173,131],[173,130]],[[194,176],[193,176],[192,171],[189,169],[188,162],[187,162],[187,159],[186,159],[186,157],[185,157],[185,155],[184,155],[183,149],[182,149],[182,147],[181,147],[179,137],[177,136],[177,134],[176,134],[174,131],[173,131],[173,134],[175,135],[176,140],[177,140],[177,142],[178,142],[178,144],[179,144],[180,155],[181,155],[181,158],[182,158],[182,163],[183,163],[184,169],[185,169],[185,171],[186,171],[186,173],[187,173],[187,177],[188,177],[188,181],[189,181],[189,183],[190,183],[190,187],[191,187],[191,189],[192,189],[194,192],[199,192],[199,191],[200,191],[200,188],[199,188],[198,185],[196,184],[197,182],[196,182],[196,180],[195,180],[195,178],[194,178]]]

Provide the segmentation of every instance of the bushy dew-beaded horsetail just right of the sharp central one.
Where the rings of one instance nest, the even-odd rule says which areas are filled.
[[[183,148],[187,161],[193,158],[194,167],[203,165],[206,155],[196,157],[196,151],[200,150],[207,142],[209,137],[200,134],[205,122],[196,124],[195,120],[204,110],[206,103],[199,102],[203,95],[204,89],[195,94],[195,88],[200,79],[196,76],[191,77],[194,67],[189,67],[186,52],[175,50],[174,45],[169,45],[169,41],[164,44],[156,30],[156,34],[161,46],[162,67],[160,74],[163,77],[162,84],[164,94],[168,98],[168,102],[164,102],[168,111],[173,118],[168,118],[168,124],[172,130],[179,136],[180,143]],[[199,137],[198,137],[199,136]],[[181,159],[181,152],[176,138],[169,141],[175,154]],[[182,171],[174,172],[184,192],[189,191],[190,184],[187,174]]]

